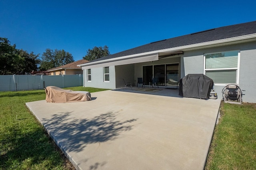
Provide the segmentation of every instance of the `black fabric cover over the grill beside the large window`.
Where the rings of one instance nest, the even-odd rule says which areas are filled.
[[[213,81],[204,74],[188,74],[180,79],[179,95],[188,98],[208,99]]]

